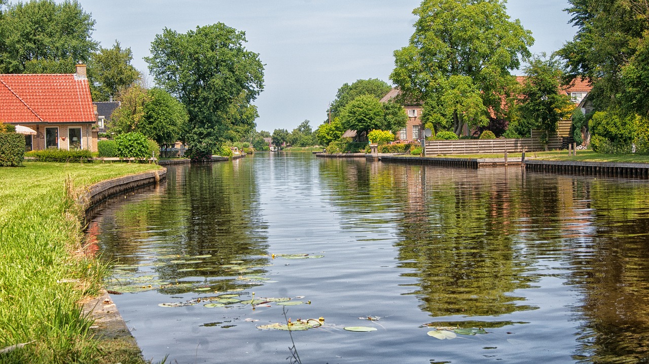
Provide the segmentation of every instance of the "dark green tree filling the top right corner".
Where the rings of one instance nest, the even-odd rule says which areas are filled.
[[[647,3],[633,0],[569,0],[570,23],[578,30],[557,54],[567,60],[566,79],[593,82],[589,99],[598,110],[620,106],[643,113]],[[635,93],[639,91],[639,93]],[[646,114],[645,114],[646,115]]]

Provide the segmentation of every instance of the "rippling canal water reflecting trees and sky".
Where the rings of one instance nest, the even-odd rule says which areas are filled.
[[[286,310],[324,318],[291,333],[304,364],[644,363],[648,202],[646,181],[257,154],[171,167],[89,230],[147,359],[289,363],[258,328]],[[253,292],[304,304],[204,306]]]

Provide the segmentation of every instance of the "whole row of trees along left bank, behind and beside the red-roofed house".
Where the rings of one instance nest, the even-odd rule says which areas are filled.
[[[158,144],[180,140],[194,159],[254,132],[263,65],[244,47],[244,32],[223,23],[186,33],[164,28],[145,58],[159,87],[149,89],[130,64],[131,50],[119,41],[101,47],[94,25],[77,1],[0,0],[0,73],[74,73],[75,63],[87,63],[93,100],[122,102],[108,125],[112,133],[138,132]]]

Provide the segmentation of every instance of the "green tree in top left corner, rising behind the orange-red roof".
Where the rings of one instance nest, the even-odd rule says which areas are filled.
[[[94,25],[75,0],[8,5],[0,17],[0,73],[23,73],[30,61],[88,62],[97,49],[91,38]]]

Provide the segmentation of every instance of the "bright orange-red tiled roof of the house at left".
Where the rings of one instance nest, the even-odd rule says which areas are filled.
[[[0,74],[0,120],[95,122],[88,79],[75,74]]]

